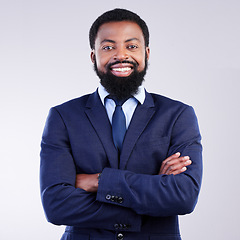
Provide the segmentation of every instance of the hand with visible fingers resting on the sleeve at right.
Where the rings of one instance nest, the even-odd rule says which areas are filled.
[[[180,157],[180,153],[175,153],[162,162],[160,174],[179,174],[187,170],[186,166],[192,164],[192,161],[188,156]]]

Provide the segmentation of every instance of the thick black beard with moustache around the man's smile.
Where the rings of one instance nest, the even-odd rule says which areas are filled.
[[[133,65],[133,72],[127,77],[117,77],[111,73],[111,66],[118,63],[130,63]],[[134,94],[138,93],[139,86],[144,81],[148,68],[147,56],[145,57],[145,67],[143,71],[137,70],[138,65],[132,61],[116,61],[107,65],[107,72],[103,73],[98,70],[96,61],[94,62],[94,70],[100,78],[101,85],[107,90],[107,92],[116,97],[118,100],[125,100],[130,98]]]

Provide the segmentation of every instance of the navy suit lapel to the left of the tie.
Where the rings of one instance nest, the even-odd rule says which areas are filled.
[[[85,113],[103,144],[111,168],[118,168],[118,153],[112,141],[111,124],[97,91],[89,96]]]

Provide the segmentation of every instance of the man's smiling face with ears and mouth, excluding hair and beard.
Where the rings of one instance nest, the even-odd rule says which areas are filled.
[[[92,61],[96,60],[98,70],[107,73],[108,65],[116,61],[128,60],[137,64],[137,70],[145,67],[145,54],[149,58],[149,48],[141,28],[134,22],[110,22],[103,24],[95,40],[95,49],[91,54]],[[113,75],[127,77],[133,71],[132,64],[114,64],[110,67]]]

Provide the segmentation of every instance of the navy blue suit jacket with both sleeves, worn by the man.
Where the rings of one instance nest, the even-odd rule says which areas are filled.
[[[127,130],[118,166],[97,91],[50,110],[41,143],[41,196],[62,239],[179,240],[178,216],[193,211],[202,177],[202,147],[192,107],[146,92]],[[158,175],[168,156],[192,164]],[[75,188],[78,173],[102,172],[97,193]]]

